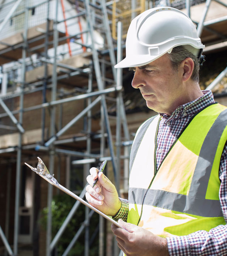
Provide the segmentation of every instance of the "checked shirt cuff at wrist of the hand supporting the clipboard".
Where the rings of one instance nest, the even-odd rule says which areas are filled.
[[[170,256],[191,255],[187,236],[172,236],[166,239]]]

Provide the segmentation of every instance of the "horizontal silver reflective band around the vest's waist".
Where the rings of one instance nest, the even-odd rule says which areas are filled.
[[[144,195],[146,197],[143,202]],[[128,202],[146,204],[203,217],[222,217],[219,200],[193,198],[182,194],[144,188],[129,188]]]

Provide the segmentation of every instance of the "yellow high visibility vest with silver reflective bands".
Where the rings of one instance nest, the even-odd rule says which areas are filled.
[[[227,108],[216,103],[195,114],[157,169],[159,122],[144,122],[132,145],[127,222],[162,237],[225,225],[218,193]]]

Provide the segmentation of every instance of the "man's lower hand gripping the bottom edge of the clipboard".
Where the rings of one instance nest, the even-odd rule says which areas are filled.
[[[168,256],[167,240],[154,235],[148,230],[123,220],[118,220],[122,228],[112,224],[118,247],[127,256]],[[128,231],[127,231],[128,230]]]

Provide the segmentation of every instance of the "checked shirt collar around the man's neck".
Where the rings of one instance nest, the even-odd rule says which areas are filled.
[[[210,90],[203,90],[203,95],[194,101],[190,101],[176,108],[175,111],[169,116],[166,113],[159,113],[165,119],[175,119],[192,116],[193,114],[201,111],[204,107],[211,103],[215,103],[214,96]]]

